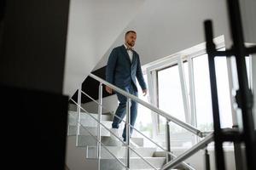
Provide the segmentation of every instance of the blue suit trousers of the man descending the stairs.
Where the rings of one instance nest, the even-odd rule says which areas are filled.
[[[122,88],[123,90],[125,90],[127,93],[133,94],[135,96],[137,96],[137,88],[134,87],[134,85],[130,85],[129,87],[125,87]],[[127,98],[122,95],[117,93],[117,97],[119,99],[119,106],[117,108],[117,110],[115,111],[115,116],[113,117],[113,123],[112,123],[112,127],[113,128],[119,128],[119,124],[120,122],[122,122],[122,120],[125,117],[126,114],[126,102],[127,102]],[[119,119],[117,116],[119,116]],[[134,126],[135,122],[136,122],[136,118],[137,118],[137,102],[131,100],[131,126]],[[133,128],[131,127],[131,133],[133,131]],[[131,134],[130,133],[130,134]],[[123,130],[123,134],[122,137],[124,138],[124,141],[126,140],[126,126]],[[131,135],[130,135],[131,137]]]

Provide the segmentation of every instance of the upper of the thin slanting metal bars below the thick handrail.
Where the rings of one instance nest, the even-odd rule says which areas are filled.
[[[86,95],[88,98],[90,98],[92,101],[94,101],[97,105],[101,105],[101,104],[99,104],[99,103],[96,101],[96,99],[93,99],[92,97],[90,97],[89,94],[86,94],[86,93],[85,93],[84,91],[82,91],[82,90],[81,90],[81,93],[84,94],[84,95]],[[111,115],[116,116],[116,115],[114,115],[106,106],[104,106],[104,105],[101,105],[101,106],[102,106],[102,108],[105,108],[106,110],[108,110]],[[116,116],[116,117],[119,118],[120,121],[125,122],[125,121],[124,121],[123,119],[121,119],[119,116]],[[98,122],[98,120],[96,120],[96,121]],[[166,150],[166,149],[163,148],[160,144],[157,144],[156,142],[154,142],[153,139],[150,139],[150,138],[148,138],[148,136],[146,136],[145,134],[141,133],[136,127],[134,127],[134,126],[132,126],[132,125],[130,125],[130,127],[132,127],[134,130],[136,130],[137,133],[140,133],[141,135],[143,135],[143,137],[145,137],[146,139],[148,139],[150,142],[152,142],[153,144],[155,144],[156,146],[158,146],[161,150],[164,150],[164,151],[166,152],[166,154],[172,156],[172,158],[176,158],[176,157],[177,157],[177,156],[175,156],[171,151]],[[190,166],[188,163],[186,163],[185,161],[183,161],[183,162],[181,162],[181,163],[182,163],[182,165],[183,165],[184,167],[188,167],[188,168],[191,169],[191,170],[195,169],[194,167],[191,167],[191,166]]]

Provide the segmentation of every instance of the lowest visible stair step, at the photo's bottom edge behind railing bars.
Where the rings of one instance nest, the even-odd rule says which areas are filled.
[[[144,159],[149,161],[156,168],[162,167],[166,161],[164,157],[144,157]],[[125,158],[119,160],[125,164]],[[143,161],[143,159],[136,157],[131,157],[130,165],[131,169],[153,169]],[[115,159],[101,159],[101,170],[125,170],[125,167]]]

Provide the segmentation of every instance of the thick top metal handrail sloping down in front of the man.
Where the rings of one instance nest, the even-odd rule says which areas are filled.
[[[103,80],[100,77],[96,77],[94,74],[90,73],[89,76],[94,78],[98,82],[102,82],[103,84],[107,85],[109,88],[112,88],[114,91],[118,92],[119,94],[123,94],[127,98],[130,98],[130,99],[136,101],[137,103],[139,103],[141,105],[144,105],[145,107],[147,107],[151,111],[154,111],[155,113],[159,114],[160,116],[166,117],[167,120],[176,123],[180,127],[183,127],[185,129],[187,129],[189,132],[194,133],[195,135],[197,135],[201,138],[203,137],[202,132],[199,129],[189,125],[188,123],[178,120],[176,117],[167,114],[165,111],[161,111],[160,109],[158,109],[154,105],[150,105],[147,102],[143,101],[142,99],[137,98],[137,96],[134,96],[132,94],[129,94],[129,93],[125,92],[125,90],[122,90],[121,88],[118,88],[118,87],[114,86],[113,84]]]

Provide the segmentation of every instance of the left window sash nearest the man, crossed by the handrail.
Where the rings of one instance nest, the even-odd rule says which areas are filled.
[[[188,71],[188,62],[183,61],[181,57],[173,59],[171,65],[169,63],[169,66],[156,70],[158,107],[183,122],[189,122],[189,77],[186,75]],[[166,118],[162,116],[157,116],[157,118],[158,133],[164,135],[166,133]],[[192,145],[192,136],[187,130],[173,122],[170,122],[169,125],[172,146]]]

